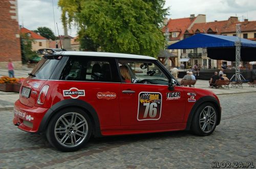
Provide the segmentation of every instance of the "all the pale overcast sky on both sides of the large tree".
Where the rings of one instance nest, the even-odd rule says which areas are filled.
[[[17,2],[19,25],[31,31],[46,26],[54,34],[56,30],[58,35],[57,23],[59,35],[64,34],[60,19],[61,12],[57,6],[58,0],[17,0]],[[189,17],[190,14],[195,14],[195,16],[204,14],[206,22],[227,20],[230,16],[237,16],[240,21],[256,20],[255,0],[166,0],[165,2],[165,7],[170,7],[169,15],[166,16],[168,19]],[[53,15],[53,9],[55,15]],[[77,36],[76,28],[73,26],[68,34],[72,37]]]

